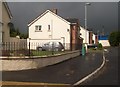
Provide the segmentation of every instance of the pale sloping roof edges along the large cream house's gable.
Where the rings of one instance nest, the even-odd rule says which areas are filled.
[[[51,10],[46,10],[45,12],[43,12],[41,15],[39,15],[38,17],[36,17],[34,20],[32,20],[30,23],[28,23],[28,27],[31,26],[33,23],[35,23],[37,20],[39,20],[41,17],[43,17],[45,14],[47,13],[51,13],[54,16],[58,17],[59,19],[63,20],[64,22],[70,24],[70,22],[68,22],[67,20],[65,20],[64,18],[60,17],[59,15],[55,14],[54,12],[52,12]]]

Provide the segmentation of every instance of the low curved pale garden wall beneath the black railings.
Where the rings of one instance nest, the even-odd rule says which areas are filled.
[[[71,51],[64,54],[49,57],[33,57],[33,58],[1,58],[2,71],[37,69],[48,65],[53,65],[70,58],[80,55],[80,51]],[[0,70],[1,71],[1,70]]]

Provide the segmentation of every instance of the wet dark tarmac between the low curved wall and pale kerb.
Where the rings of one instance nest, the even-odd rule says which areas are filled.
[[[86,56],[78,56],[40,69],[3,71],[2,80],[74,84],[93,72],[101,64],[102,52],[88,53]]]

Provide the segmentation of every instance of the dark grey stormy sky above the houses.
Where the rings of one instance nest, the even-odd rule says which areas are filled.
[[[12,22],[21,32],[27,32],[27,24],[47,9],[58,9],[58,15],[63,18],[78,18],[84,27],[84,2],[9,2]],[[93,32],[109,34],[118,30],[118,3],[117,2],[91,2],[87,6],[88,28]]]

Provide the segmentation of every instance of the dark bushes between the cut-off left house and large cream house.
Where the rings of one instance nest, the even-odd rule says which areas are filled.
[[[10,37],[20,36],[21,39],[28,38],[28,34],[22,34],[22,33],[20,33],[19,28],[15,29],[13,23],[9,22],[8,26],[10,28]]]

